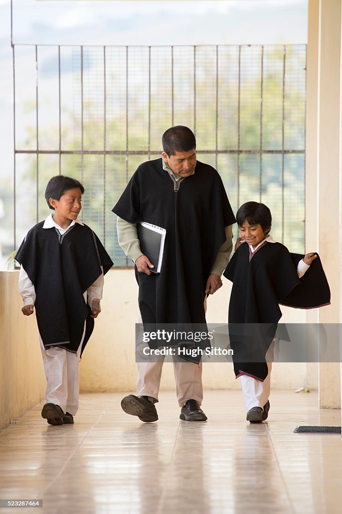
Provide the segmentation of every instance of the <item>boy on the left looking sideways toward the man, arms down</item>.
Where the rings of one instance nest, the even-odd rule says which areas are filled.
[[[79,406],[79,360],[99,315],[103,276],[113,265],[98,237],[79,219],[84,187],[52,177],[45,199],[53,210],[28,232],[15,259],[21,264],[22,312],[35,306],[49,425],[73,423]]]

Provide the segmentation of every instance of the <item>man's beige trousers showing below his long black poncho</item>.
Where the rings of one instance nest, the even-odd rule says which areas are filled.
[[[141,315],[139,316],[139,323],[142,323]],[[136,342],[138,347],[140,344],[146,346],[146,343],[142,341],[142,337],[138,339]],[[164,358],[164,356],[160,356],[158,362],[137,362],[138,396],[151,396],[158,401]],[[202,362],[195,364],[193,362],[178,362],[174,360],[173,364],[179,406],[183,407],[187,400],[191,399],[196,400],[201,405],[203,399]]]

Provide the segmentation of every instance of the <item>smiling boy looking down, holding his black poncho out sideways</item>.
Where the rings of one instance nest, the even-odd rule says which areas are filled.
[[[269,234],[272,216],[267,206],[249,201],[239,208],[236,220],[241,238],[223,273],[233,282],[230,344],[235,375],[241,377],[246,419],[261,423],[270,409],[273,338],[281,318],[279,303],[319,307],[330,303],[330,291],[317,254],[290,254],[284,245],[274,241]],[[299,279],[313,262],[314,269],[306,277],[309,281],[303,279],[301,283]],[[313,287],[310,282],[314,282]]]

